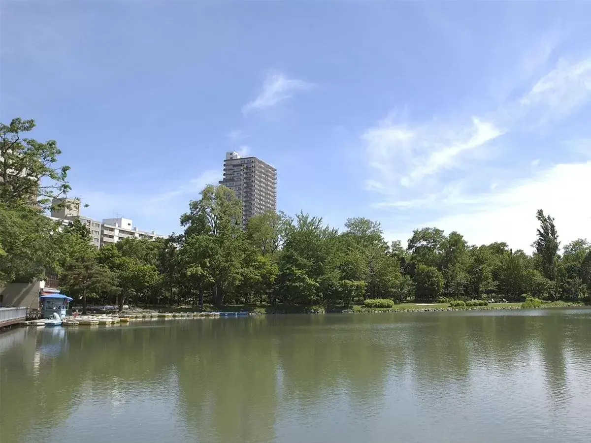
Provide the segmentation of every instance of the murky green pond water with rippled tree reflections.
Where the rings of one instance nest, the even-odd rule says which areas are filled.
[[[0,334],[0,442],[591,441],[591,310]]]

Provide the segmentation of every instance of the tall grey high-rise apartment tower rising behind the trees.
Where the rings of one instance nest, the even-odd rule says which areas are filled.
[[[242,201],[242,226],[255,214],[277,210],[277,170],[256,157],[226,152],[223,180]]]

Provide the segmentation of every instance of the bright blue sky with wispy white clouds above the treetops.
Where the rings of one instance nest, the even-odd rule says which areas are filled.
[[[96,219],[180,232],[226,151],[278,209],[531,250],[591,239],[591,2],[2,1],[0,117]]]

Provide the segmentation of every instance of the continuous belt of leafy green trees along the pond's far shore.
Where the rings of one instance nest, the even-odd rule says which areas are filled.
[[[356,217],[338,232],[319,217],[252,217],[242,230],[233,191],[208,185],[181,216],[184,232],[155,242],[124,239],[96,249],[85,226],[63,229],[43,215],[69,190],[55,169],[54,142],[21,139],[34,123],[0,127],[0,280],[59,273],[64,292],[102,302],[349,306],[367,298],[397,302],[507,298],[525,294],[577,300],[591,292],[591,245],[560,243],[553,217],[538,210],[534,252],[506,243],[468,245],[457,232],[417,229],[407,247],[384,239],[379,223]],[[18,172],[18,173],[15,173]],[[20,171],[20,172],[19,172]],[[33,178],[31,178],[33,177]],[[31,195],[39,196],[31,204]]]

